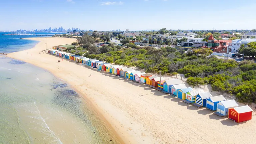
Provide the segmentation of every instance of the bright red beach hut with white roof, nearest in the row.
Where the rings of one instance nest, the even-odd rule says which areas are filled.
[[[248,106],[241,106],[228,109],[228,118],[240,123],[252,119],[253,110]]]

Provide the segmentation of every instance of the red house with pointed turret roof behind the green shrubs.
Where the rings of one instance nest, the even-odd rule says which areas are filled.
[[[206,46],[201,48],[210,48],[213,52],[227,53],[228,43],[232,43],[232,40],[214,40],[213,36],[211,35],[208,38],[208,43]]]

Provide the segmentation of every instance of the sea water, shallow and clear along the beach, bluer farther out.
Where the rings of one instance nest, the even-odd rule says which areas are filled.
[[[21,43],[22,47],[15,46],[14,51],[29,48],[24,43],[33,46],[36,42]],[[9,47],[0,48],[13,51]],[[119,141],[67,83],[42,68],[0,55],[0,144],[10,143],[116,144]]]

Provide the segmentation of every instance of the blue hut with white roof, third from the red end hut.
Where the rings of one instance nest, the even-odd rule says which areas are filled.
[[[206,108],[212,111],[217,110],[217,104],[221,101],[225,101],[223,95],[215,96],[215,97],[209,97],[206,99]]]

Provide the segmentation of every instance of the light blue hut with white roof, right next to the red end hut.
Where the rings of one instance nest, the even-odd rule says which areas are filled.
[[[217,111],[216,115],[219,116],[227,116],[228,115],[228,109],[237,107],[238,104],[235,100],[227,100],[227,101],[221,101],[217,104]]]

